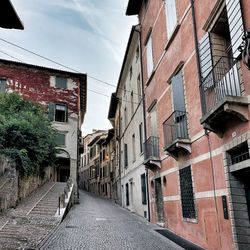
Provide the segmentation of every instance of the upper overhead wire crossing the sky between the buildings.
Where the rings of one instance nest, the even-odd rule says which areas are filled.
[[[15,43],[12,43],[12,42],[10,42],[10,41],[7,41],[6,39],[0,38],[0,40],[3,41],[3,42],[5,42],[5,43],[8,43],[8,44],[10,44],[10,45],[12,45],[12,46],[14,46],[14,47],[17,47],[17,48],[19,48],[19,49],[21,49],[21,50],[24,50],[24,51],[26,51],[26,52],[28,52],[28,53],[31,53],[31,54],[33,54],[33,55],[35,55],[35,56],[41,57],[41,58],[43,58],[44,60],[47,60],[47,61],[52,62],[52,63],[54,63],[54,64],[57,64],[57,65],[59,65],[59,66],[61,66],[61,67],[64,67],[64,68],[66,68],[66,69],[69,69],[69,70],[71,70],[71,71],[73,71],[73,72],[82,74],[82,72],[80,72],[80,71],[78,71],[78,70],[76,70],[76,69],[73,69],[73,68],[71,68],[71,67],[68,67],[68,66],[66,66],[66,65],[64,65],[64,64],[62,64],[62,63],[59,63],[59,62],[57,62],[57,61],[55,61],[55,60],[52,60],[52,59],[50,59],[50,58],[48,58],[48,57],[46,57],[46,56],[42,56],[42,55],[40,55],[40,54],[38,54],[38,53],[36,53],[36,52],[34,52],[34,51],[31,51],[31,50],[29,50],[29,49],[26,49],[26,48],[20,46],[20,45],[17,45],[17,44],[15,44]],[[11,56],[11,57],[12,57],[12,56]],[[14,58],[14,57],[12,57],[12,58]],[[15,58],[15,59],[16,59],[16,58]],[[19,59],[17,59],[17,60],[19,60]],[[19,60],[19,61],[21,61],[21,60]],[[86,73],[86,74],[87,74],[87,73]],[[106,82],[106,81],[103,81],[103,80],[101,80],[101,79],[98,79],[98,78],[96,78],[96,77],[94,77],[94,76],[91,76],[91,75],[89,75],[89,74],[87,74],[87,76],[88,76],[89,78],[93,79],[93,80],[96,80],[96,81],[100,82],[100,83],[103,83],[103,84],[106,84],[106,85],[108,85],[108,86],[111,86],[111,87],[115,87],[115,88],[116,88],[116,85],[114,85],[114,84],[108,83],[108,82]],[[120,89],[120,88],[118,88],[118,89]],[[124,89],[124,91],[130,92],[130,93],[133,92],[133,91],[130,91],[130,90],[125,90],[125,89]],[[133,94],[134,94],[134,95],[141,96],[141,95],[138,94],[138,93],[134,93],[134,92],[133,92]]]

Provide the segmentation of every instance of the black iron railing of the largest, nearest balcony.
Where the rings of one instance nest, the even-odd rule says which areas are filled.
[[[241,96],[237,61],[221,57],[210,73],[202,80],[203,113],[208,113],[226,96]]]

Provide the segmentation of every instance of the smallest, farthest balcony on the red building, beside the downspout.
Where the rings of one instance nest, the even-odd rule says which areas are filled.
[[[161,166],[159,137],[150,136],[144,143],[144,149],[144,164],[148,168],[159,168]]]

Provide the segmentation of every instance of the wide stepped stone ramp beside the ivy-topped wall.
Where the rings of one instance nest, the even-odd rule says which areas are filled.
[[[0,214],[0,249],[35,249],[60,223],[54,214],[64,186],[47,182],[15,209]]]

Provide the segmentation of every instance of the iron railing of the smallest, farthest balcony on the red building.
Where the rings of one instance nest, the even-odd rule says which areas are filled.
[[[159,137],[150,136],[144,142],[144,149],[145,149],[145,160],[148,159],[159,159],[160,158],[160,151],[159,151]]]

